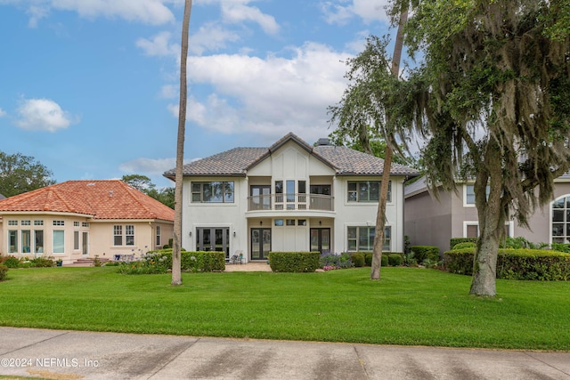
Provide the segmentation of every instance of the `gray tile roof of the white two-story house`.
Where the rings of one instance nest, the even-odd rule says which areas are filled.
[[[384,160],[381,158],[346,147],[330,145],[313,147],[295,134],[288,133],[269,148],[234,148],[191,162],[183,166],[183,175],[245,176],[248,169],[269,157],[273,151],[278,150],[288,141],[297,142],[301,148],[334,169],[337,175],[381,175],[384,170]],[[392,164],[390,172],[392,175],[418,175],[416,170],[398,164]],[[175,169],[168,170],[164,175],[174,179]]]

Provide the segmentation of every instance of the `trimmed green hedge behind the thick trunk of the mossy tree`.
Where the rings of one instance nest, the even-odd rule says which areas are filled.
[[[464,248],[444,253],[445,268],[452,273],[473,274],[475,249]],[[500,248],[497,279],[570,279],[570,254],[543,249]]]

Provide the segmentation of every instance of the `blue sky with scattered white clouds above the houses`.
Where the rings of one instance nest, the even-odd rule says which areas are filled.
[[[326,137],[387,0],[195,0],[185,160]],[[0,150],[57,182],[175,166],[183,0],[0,0]],[[389,50],[388,50],[389,51]]]

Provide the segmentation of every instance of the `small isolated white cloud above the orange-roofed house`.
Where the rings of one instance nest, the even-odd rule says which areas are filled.
[[[16,111],[20,116],[16,125],[29,131],[55,132],[78,121],[77,117],[71,117],[69,112],[64,111],[58,103],[49,99],[22,101]]]

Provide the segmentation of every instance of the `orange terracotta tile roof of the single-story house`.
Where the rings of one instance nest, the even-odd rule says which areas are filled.
[[[68,181],[0,200],[2,212],[88,214],[94,219],[161,219],[175,211],[119,180]]]

